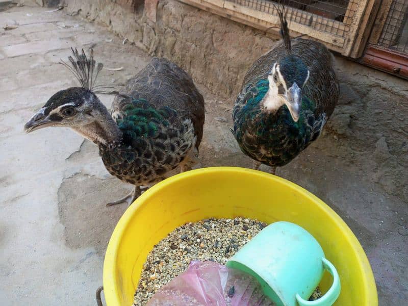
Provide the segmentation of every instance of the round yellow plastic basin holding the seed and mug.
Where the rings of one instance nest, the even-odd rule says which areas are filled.
[[[345,191],[346,192],[346,191]],[[377,306],[370,264],[346,223],[323,201],[280,177],[243,168],[213,167],[184,172],[143,193],[123,214],[104,263],[108,306],[132,305],[147,253],[186,222],[243,216],[266,223],[290,221],[309,231],[341,281],[335,305]],[[331,276],[322,279],[323,292]]]

